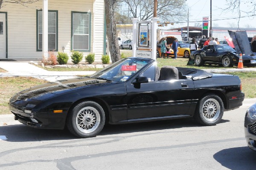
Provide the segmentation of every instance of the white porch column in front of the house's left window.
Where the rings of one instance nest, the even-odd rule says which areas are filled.
[[[48,58],[48,0],[43,0],[43,57]]]

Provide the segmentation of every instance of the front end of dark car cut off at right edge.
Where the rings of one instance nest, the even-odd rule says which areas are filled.
[[[256,103],[245,114],[244,133],[248,147],[256,151]]]

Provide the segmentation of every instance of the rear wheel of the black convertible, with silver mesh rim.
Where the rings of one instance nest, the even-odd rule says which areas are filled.
[[[202,125],[212,126],[221,121],[223,112],[224,105],[221,98],[209,94],[199,101],[194,118]]]

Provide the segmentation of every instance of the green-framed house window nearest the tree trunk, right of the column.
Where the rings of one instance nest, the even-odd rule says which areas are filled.
[[[90,51],[90,13],[72,12],[72,50]]]

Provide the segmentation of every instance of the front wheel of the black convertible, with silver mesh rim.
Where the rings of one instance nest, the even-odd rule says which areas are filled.
[[[105,112],[94,101],[77,104],[67,117],[67,128],[79,138],[90,138],[102,131],[105,124]]]

